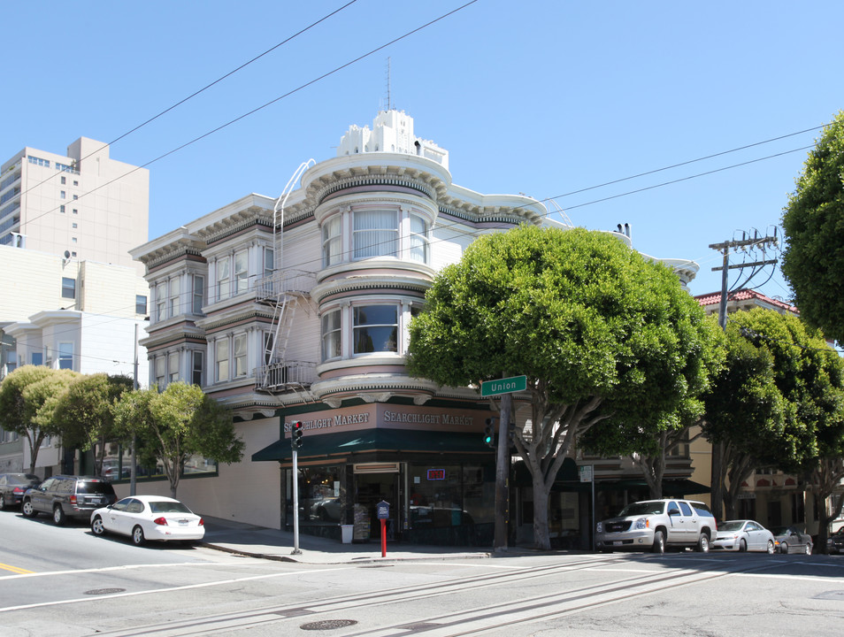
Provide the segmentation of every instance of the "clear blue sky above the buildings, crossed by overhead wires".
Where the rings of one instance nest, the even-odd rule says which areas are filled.
[[[111,142],[347,1],[6,3],[3,158]],[[478,0],[367,55],[464,2],[357,0],[114,143],[111,157],[152,162],[150,238],[250,192],[278,196],[303,161],[334,157],[349,125],[371,126],[387,104],[389,58],[392,104],[449,150],[457,184],[556,197],[578,226],[629,223],[642,252],[698,262],[703,294],[720,288],[708,246],[779,224],[818,129],[582,190],[844,108],[837,0]],[[761,290],[788,296],[779,274]]]

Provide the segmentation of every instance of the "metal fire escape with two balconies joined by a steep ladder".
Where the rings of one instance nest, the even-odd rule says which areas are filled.
[[[288,342],[296,314],[312,310],[311,288],[315,280],[313,272],[295,270],[273,272],[258,281],[255,300],[272,308],[272,332],[264,343],[264,366],[255,375],[257,391],[301,391],[313,400],[310,388],[316,380],[317,364],[288,360]]]

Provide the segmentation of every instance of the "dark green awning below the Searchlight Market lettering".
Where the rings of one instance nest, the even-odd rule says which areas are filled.
[[[298,457],[347,457],[363,451],[459,453],[492,456],[479,433],[387,429],[375,427],[336,434],[304,434]],[[252,454],[252,462],[290,460],[290,439],[282,438]]]

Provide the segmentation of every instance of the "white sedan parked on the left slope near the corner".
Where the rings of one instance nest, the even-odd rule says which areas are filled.
[[[163,495],[132,495],[91,513],[92,533],[128,535],[137,546],[147,540],[202,540],[203,525],[203,518]]]

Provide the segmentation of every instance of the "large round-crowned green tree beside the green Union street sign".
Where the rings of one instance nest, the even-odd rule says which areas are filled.
[[[527,376],[529,425],[514,444],[533,480],[534,542],[549,549],[550,488],[579,436],[664,426],[653,414],[705,384],[704,324],[668,267],[609,234],[521,226],[436,276],[407,365],[450,387]]]

